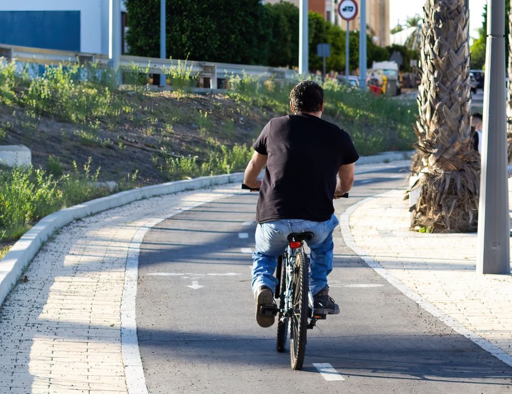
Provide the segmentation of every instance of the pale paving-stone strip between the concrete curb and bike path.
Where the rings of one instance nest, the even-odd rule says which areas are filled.
[[[132,238],[155,219],[237,186],[141,200],[62,228],[0,310],[0,393],[127,392],[120,326]]]

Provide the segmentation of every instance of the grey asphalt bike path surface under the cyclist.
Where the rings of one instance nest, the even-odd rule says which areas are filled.
[[[336,215],[406,176],[399,167],[356,175]],[[150,393],[512,393],[512,368],[382,279],[339,230],[329,281],[341,313],[308,330],[304,368],[291,370],[288,353],[275,351],[276,325],[254,319],[251,255],[242,248],[254,246],[257,198],[204,204],[146,234],[137,327]],[[344,380],[325,380],[313,363],[329,363]]]

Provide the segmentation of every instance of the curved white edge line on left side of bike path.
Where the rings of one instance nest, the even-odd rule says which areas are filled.
[[[232,195],[227,194],[226,197]],[[224,197],[224,196],[222,196]],[[220,198],[220,196],[219,196]],[[142,360],[140,359],[139,340],[137,338],[137,320],[136,320],[136,297],[137,282],[139,277],[139,253],[140,245],[144,235],[158,223],[172,217],[178,213],[196,208],[199,205],[209,203],[209,201],[197,202],[186,208],[175,210],[164,217],[148,219],[144,227],[139,228],[135,233],[128,247],[126,257],[126,270],[124,273],[124,289],[121,300],[121,352],[123,356],[124,371],[126,378],[126,388],[129,394],[148,394],[144,370],[142,369]],[[194,283],[193,283],[194,284]]]

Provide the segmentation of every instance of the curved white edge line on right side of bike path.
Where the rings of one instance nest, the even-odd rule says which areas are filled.
[[[481,336],[476,334],[475,332],[466,329],[461,323],[459,323],[454,318],[446,315],[443,311],[441,311],[439,308],[435,307],[435,305],[431,304],[429,301],[425,300],[423,297],[421,297],[419,294],[415,293],[411,289],[409,289],[405,284],[403,284],[398,278],[396,278],[394,275],[390,274],[385,268],[382,268],[382,266],[373,259],[373,257],[366,254],[364,250],[359,248],[355,242],[354,238],[352,237],[352,233],[350,232],[350,215],[352,212],[354,212],[360,205],[367,203],[368,201],[376,198],[380,198],[381,196],[395,192],[396,190],[390,190],[385,193],[377,194],[373,197],[368,197],[364,200],[358,201],[356,204],[350,206],[347,208],[345,212],[339,217],[339,229],[342,232],[343,239],[345,240],[345,244],[352,249],[356,254],[361,257],[370,268],[372,268],[377,274],[382,276],[384,279],[386,279],[388,282],[390,282],[395,288],[400,290],[403,294],[405,294],[407,297],[412,299],[414,302],[416,302],[421,308],[423,308],[425,311],[429,312],[430,314],[437,317],[439,320],[441,320],[444,324],[449,326],[452,330],[459,333],[460,335],[463,335],[464,337],[471,339],[473,342],[475,342],[478,346],[480,346],[484,351],[492,354],[499,360],[503,361],[505,364],[512,366],[512,356],[507,354],[505,351],[500,349],[498,346],[490,343],[486,339],[483,339]]]

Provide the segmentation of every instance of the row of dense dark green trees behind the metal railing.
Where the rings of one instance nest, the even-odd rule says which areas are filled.
[[[130,53],[159,57],[160,1],[126,0]],[[345,34],[314,12],[309,12],[309,68],[322,69],[318,43],[330,43],[327,69],[345,70]],[[262,5],[259,0],[166,0],[167,55],[174,59],[298,66],[299,10],[283,2]],[[350,69],[359,65],[359,33],[350,32]],[[392,52],[368,38],[368,65],[388,60]]]

